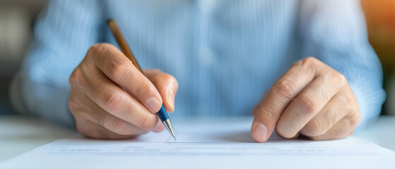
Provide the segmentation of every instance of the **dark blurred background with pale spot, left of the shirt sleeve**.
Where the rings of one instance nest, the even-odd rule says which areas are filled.
[[[0,0],[1,113],[12,112],[8,88],[32,39],[35,18],[46,5],[47,0]]]

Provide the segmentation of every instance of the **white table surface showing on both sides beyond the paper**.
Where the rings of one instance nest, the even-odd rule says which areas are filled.
[[[36,118],[20,115],[0,116],[0,161],[78,132]],[[395,116],[382,116],[367,130],[354,134],[395,151]]]

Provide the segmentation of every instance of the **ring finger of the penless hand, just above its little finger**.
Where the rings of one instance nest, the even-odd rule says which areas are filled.
[[[326,133],[351,111],[347,100],[343,94],[336,94],[312,120],[309,120],[300,133],[307,137]]]

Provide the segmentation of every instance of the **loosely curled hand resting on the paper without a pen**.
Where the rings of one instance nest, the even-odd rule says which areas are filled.
[[[360,111],[346,77],[316,58],[294,63],[254,107],[251,134],[266,142],[276,127],[285,138],[339,139],[353,134]]]

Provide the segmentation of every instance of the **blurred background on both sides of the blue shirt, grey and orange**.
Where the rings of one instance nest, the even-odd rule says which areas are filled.
[[[395,115],[395,0],[362,0],[369,39],[384,70],[383,115]],[[0,111],[12,112],[8,88],[20,68],[35,18],[47,0],[0,0]]]

